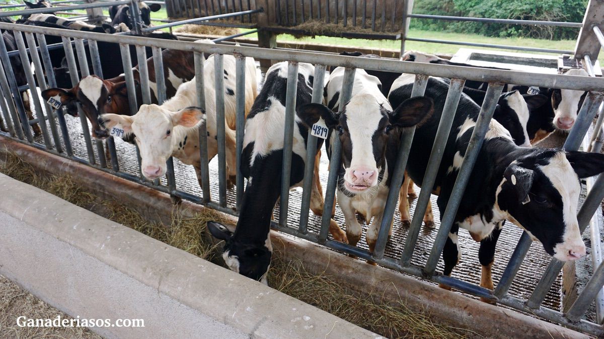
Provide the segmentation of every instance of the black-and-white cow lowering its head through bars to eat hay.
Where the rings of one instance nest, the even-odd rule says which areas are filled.
[[[306,152],[318,154],[323,144],[322,139],[318,139],[316,150],[306,149],[309,128],[313,123],[307,124],[305,117],[316,116],[318,111],[324,109],[321,104],[310,103],[313,72],[314,66],[309,63],[298,64],[296,128],[289,179],[291,186],[297,186],[304,178]],[[269,238],[272,209],[281,192],[287,74],[287,62],[276,63],[268,69],[265,83],[245,124],[241,171],[248,178],[248,186],[243,193],[235,232],[231,233],[222,224],[208,222],[211,234],[226,242],[222,253],[226,265],[237,273],[265,284],[272,255]],[[323,197],[317,174],[315,166],[310,205],[315,214],[321,215]],[[333,220],[330,232],[334,239],[346,242],[344,232]]]

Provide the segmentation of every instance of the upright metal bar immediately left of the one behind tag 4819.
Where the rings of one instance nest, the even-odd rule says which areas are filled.
[[[289,180],[292,172],[292,148],[294,147],[294,125],[296,97],[298,92],[298,63],[288,64],[288,83],[285,94],[285,125],[283,128],[283,166],[281,166],[281,200],[279,204],[279,224],[288,225]]]

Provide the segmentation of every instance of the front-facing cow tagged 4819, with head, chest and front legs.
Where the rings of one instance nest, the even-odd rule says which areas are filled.
[[[363,69],[356,69],[352,97],[344,111],[336,113],[342,104],[339,90],[343,78],[342,67],[330,74],[326,85],[327,110],[321,117],[333,131],[330,144],[335,138],[342,144],[337,197],[344,214],[348,241],[356,245],[361,238],[362,226],[356,219],[356,212],[364,216],[367,224],[374,217],[365,236],[369,250],[373,252],[390,191],[402,128],[421,124],[430,115],[432,102],[428,98],[413,98],[391,106],[379,88],[379,79]],[[329,148],[327,154],[331,156]]]

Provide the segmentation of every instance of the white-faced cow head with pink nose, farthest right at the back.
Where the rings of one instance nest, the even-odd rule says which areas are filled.
[[[569,69],[566,75],[582,75],[587,77],[585,69]],[[570,131],[577,113],[583,106],[587,92],[573,89],[553,89],[551,93],[551,107],[554,109],[553,124],[557,130]]]

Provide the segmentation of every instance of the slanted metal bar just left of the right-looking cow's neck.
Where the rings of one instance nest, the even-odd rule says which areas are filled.
[[[434,275],[436,265],[439,262],[440,253],[443,252],[445,241],[449,236],[449,230],[451,230],[451,226],[455,221],[455,215],[457,215],[457,209],[461,203],[463,192],[466,189],[467,182],[470,179],[472,169],[474,168],[474,163],[476,162],[478,153],[483,145],[484,135],[486,135],[487,130],[489,130],[489,122],[493,117],[495,106],[497,105],[497,98],[501,95],[502,90],[503,84],[501,83],[489,83],[489,87],[487,87],[483,106],[480,108],[480,113],[478,114],[474,131],[472,131],[470,142],[467,145],[466,153],[463,157],[459,173],[457,174],[451,197],[449,198],[445,212],[441,217],[439,232],[434,240],[434,246],[432,246],[430,256],[428,257],[428,261],[424,268],[425,273],[428,275]]]

